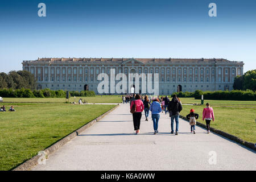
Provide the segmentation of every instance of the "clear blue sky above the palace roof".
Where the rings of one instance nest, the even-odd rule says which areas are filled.
[[[38,57],[215,57],[256,69],[256,1],[1,0],[0,72]]]

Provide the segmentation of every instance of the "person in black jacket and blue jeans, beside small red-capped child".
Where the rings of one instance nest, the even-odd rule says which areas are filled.
[[[171,117],[171,134],[174,134],[174,119],[175,119],[175,122],[176,122],[175,135],[177,135],[179,131],[179,115],[180,115],[180,111],[182,110],[182,105],[180,101],[177,99],[176,94],[174,94],[174,96],[172,97],[172,100],[168,104],[167,109]]]

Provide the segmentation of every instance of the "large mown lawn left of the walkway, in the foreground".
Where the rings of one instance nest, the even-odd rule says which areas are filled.
[[[15,106],[15,112],[0,112],[0,170],[9,170],[32,158],[113,107],[20,104]]]

